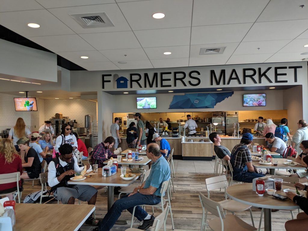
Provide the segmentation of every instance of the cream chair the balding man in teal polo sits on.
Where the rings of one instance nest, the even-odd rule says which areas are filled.
[[[141,206],[143,208],[145,208],[145,206],[151,206],[152,207],[152,212],[154,213],[154,208],[158,208],[158,209],[161,209],[162,211],[164,211],[164,204],[166,202],[169,202],[169,212],[170,212],[170,217],[171,217],[171,224],[172,224],[172,230],[174,229],[174,224],[173,224],[173,217],[172,217],[172,211],[171,211],[171,204],[170,204],[170,198],[169,198],[169,193],[167,192],[167,197],[168,199],[165,199],[163,197],[163,195],[165,194],[166,190],[168,189],[169,187],[169,184],[170,184],[170,179],[169,180],[166,180],[162,183],[162,186],[161,186],[161,189],[160,189],[160,193],[161,193],[161,196],[160,196],[160,203],[158,203],[157,205],[138,205],[138,206]],[[133,226],[133,223],[134,223],[134,214],[135,214],[135,209],[136,209],[137,206],[134,207],[133,209],[133,213],[132,213],[132,221],[131,221],[131,228]],[[166,231],[166,225],[164,225],[164,231]]]

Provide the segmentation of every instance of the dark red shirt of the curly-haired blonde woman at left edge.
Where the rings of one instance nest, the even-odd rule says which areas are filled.
[[[20,172],[20,175],[22,175],[22,162],[20,156],[14,154],[15,158],[12,163],[7,163],[5,161],[4,155],[0,153],[0,174],[6,174],[6,173],[13,173],[13,172]],[[21,181],[19,180],[19,186],[21,186]],[[12,183],[6,183],[6,184],[0,184],[0,191],[14,188],[16,187],[16,182]]]

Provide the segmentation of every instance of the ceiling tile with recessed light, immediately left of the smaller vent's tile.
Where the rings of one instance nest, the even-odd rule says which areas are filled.
[[[177,59],[189,57],[189,46],[174,47],[148,47],[144,48],[149,59]],[[164,52],[171,52],[170,55],[164,55]]]

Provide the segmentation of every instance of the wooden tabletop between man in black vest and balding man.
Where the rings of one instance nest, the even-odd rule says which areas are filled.
[[[135,180],[137,180],[141,173],[133,173],[136,177],[132,180],[123,180],[121,175],[121,169],[119,168],[118,172],[112,176],[104,177],[102,176],[102,168],[98,169],[97,174],[93,175],[93,177],[84,180],[69,180],[68,184],[83,184],[83,185],[103,185],[103,186],[121,186],[125,187],[132,184]],[[127,169],[126,172],[132,173],[131,170]]]

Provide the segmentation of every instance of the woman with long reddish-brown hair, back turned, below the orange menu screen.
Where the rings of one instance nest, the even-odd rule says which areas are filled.
[[[11,128],[10,132],[9,132],[9,137],[8,139],[12,139],[13,138],[13,144],[17,150],[17,152],[20,151],[20,149],[18,148],[18,145],[16,144],[17,140],[19,140],[22,137],[28,137],[29,139],[31,138],[31,132],[29,130],[29,128],[26,127],[26,123],[25,121],[19,117],[16,121],[16,124],[13,128]]]

